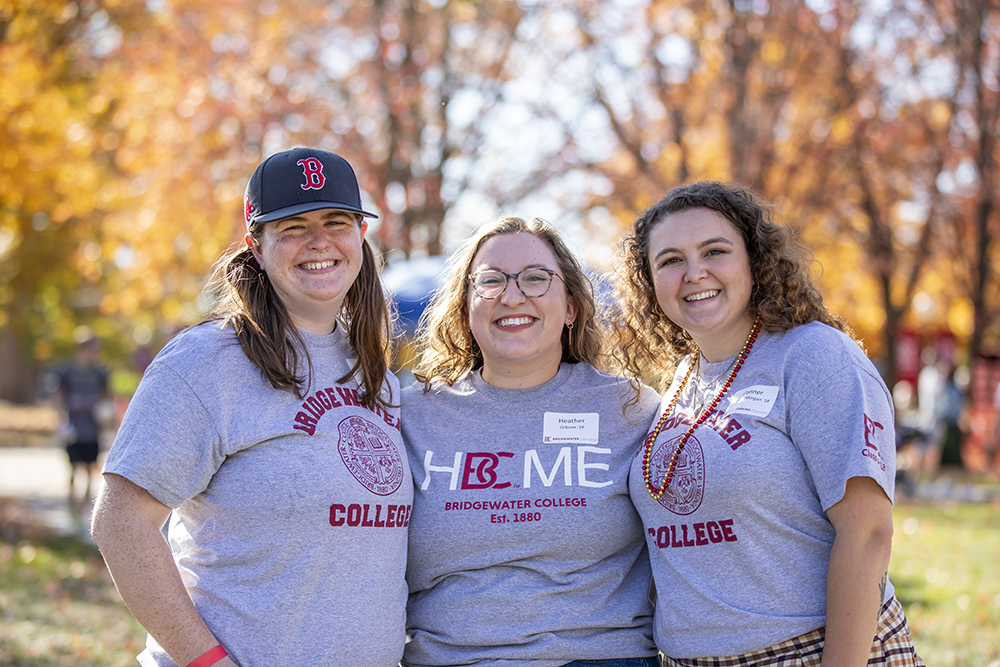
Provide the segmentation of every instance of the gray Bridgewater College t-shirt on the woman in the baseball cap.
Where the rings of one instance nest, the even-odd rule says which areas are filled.
[[[403,652],[413,485],[399,410],[337,382],[353,354],[342,329],[303,333],[305,400],[272,388],[231,328],[188,329],[146,371],[104,468],[174,508],[181,577],[241,667],[389,667]],[[174,665],[152,638],[139,662]]]

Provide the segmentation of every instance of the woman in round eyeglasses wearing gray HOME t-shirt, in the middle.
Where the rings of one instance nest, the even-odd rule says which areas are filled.
[[[404,665],[659,665],[628,469],[658,402],[604,373],[590,283],[504,217],[453,257],[402,431],[414,474]]]

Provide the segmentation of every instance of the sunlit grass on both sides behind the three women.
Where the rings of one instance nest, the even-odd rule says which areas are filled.
[[[928,667],[1000,667],[1000,505],[901,502],[889,577]],[[0,499],[0,666],[135,665],[145,633],[97,550]]]

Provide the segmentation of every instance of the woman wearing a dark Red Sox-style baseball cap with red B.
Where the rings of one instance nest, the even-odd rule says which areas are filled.
[[[413,489],[375,216],[345,160],[306,148],[257,167],[245,214],[215,312],[129,404],[93,536],[142,665],[395,665]]]

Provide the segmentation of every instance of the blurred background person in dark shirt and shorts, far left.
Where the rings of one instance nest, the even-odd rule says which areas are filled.
[[[100,454],[100,408],[108,399],[108,373],[97,364],[99,338],[87,336],[76,347],[73,362],[57,371],[56,402],[62,412],[61,436],[69,457],[70,509],[83,509],[91,502],[91,484]],[[76,480],[83,477],[83,492],[76,492]]]

